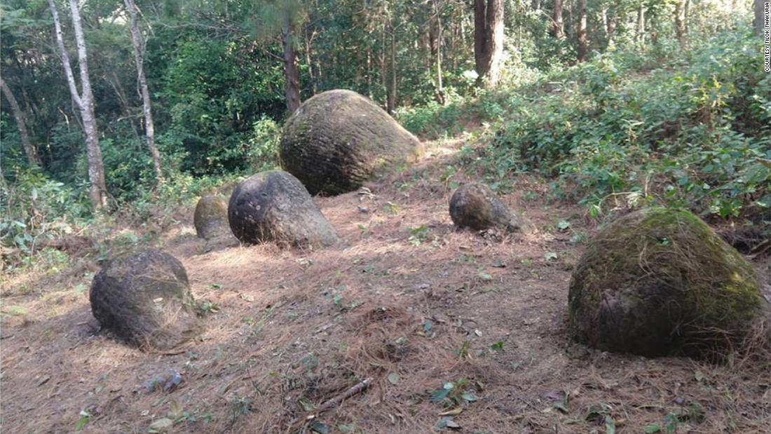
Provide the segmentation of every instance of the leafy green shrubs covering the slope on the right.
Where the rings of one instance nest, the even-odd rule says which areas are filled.
[[[511,96],[507,119],[478,151],[492,180],[534,170],[557,197],[598,216],[669,204],[761,223],[771,205],[769,84],[758,42],[740,29],[638,72],[625,53],[597,56]],[[574,79],[575,81],[571,81]]]

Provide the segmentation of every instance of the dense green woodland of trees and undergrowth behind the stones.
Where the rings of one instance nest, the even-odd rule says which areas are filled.
[[[5,0],[2,243],[32,253],[275,167],[287,114],[328,89],[423,139],[463,136],[494,190],[530,172],[589,217],[659,203],[767,227],[756,16],[743,0]]]

